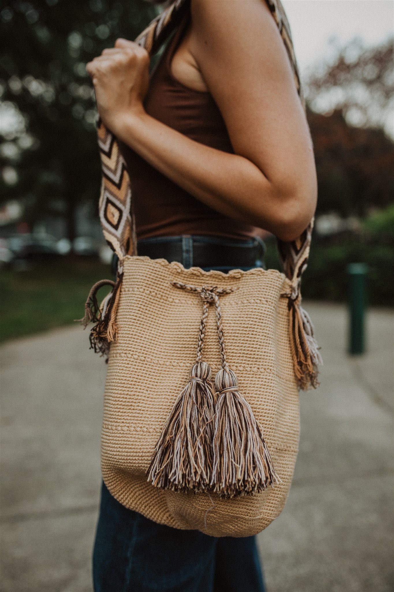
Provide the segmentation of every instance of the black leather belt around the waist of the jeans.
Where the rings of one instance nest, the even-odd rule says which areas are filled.
[[[235,240],[203,237],[203,241],[193,236],[174,237],[159,242],[149,239],[138,242],[138,255],[151,259],[164,258],[178,261],[185,267],[229,267],[249,268],[264,266],[265,246],[261,240],[252,239],[239,242]]]

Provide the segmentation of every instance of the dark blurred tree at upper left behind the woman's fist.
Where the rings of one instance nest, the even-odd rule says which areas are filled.
[[[117,37],[133,39],[157,9],[143,0],[9,1],[0,12],[2,200],[18,198],[34,223],[97,200],[95,101],[85,64]]]

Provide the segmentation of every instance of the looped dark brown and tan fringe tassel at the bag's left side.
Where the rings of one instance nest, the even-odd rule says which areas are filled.
[[[80,323],[86,328],[90,322],[96,323],[90,331],[90,349],[101,355],[108,355],[110,342],[116,339],[116,311],[118,310],[119,297],[121,295],[123,274],[118,276],[118,281],[101,279],[92,289],[85,303],[85,314]],[[97,301],[97,292],[103,286],[112,286],[112,292],[105,298],[100,307]]]

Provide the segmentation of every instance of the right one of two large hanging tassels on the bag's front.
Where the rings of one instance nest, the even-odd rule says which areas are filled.
[[[215,384],[219,398],[213,438],[213,491],[230,498],[257,493],[280,482],[262,427],[228,366],[217,372]]]

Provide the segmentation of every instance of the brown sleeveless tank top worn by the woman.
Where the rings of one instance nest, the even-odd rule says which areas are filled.
[[[154,70],[145,111],[192,140],[233,153],[226,124],[210,93],[194,91],[172,76],[172,56],[189,23],[189,17],[182,22]],[[138,239],[181,234],[247,239],[266,234],[203,204],[125,144],[121,149],[131,172]]]

